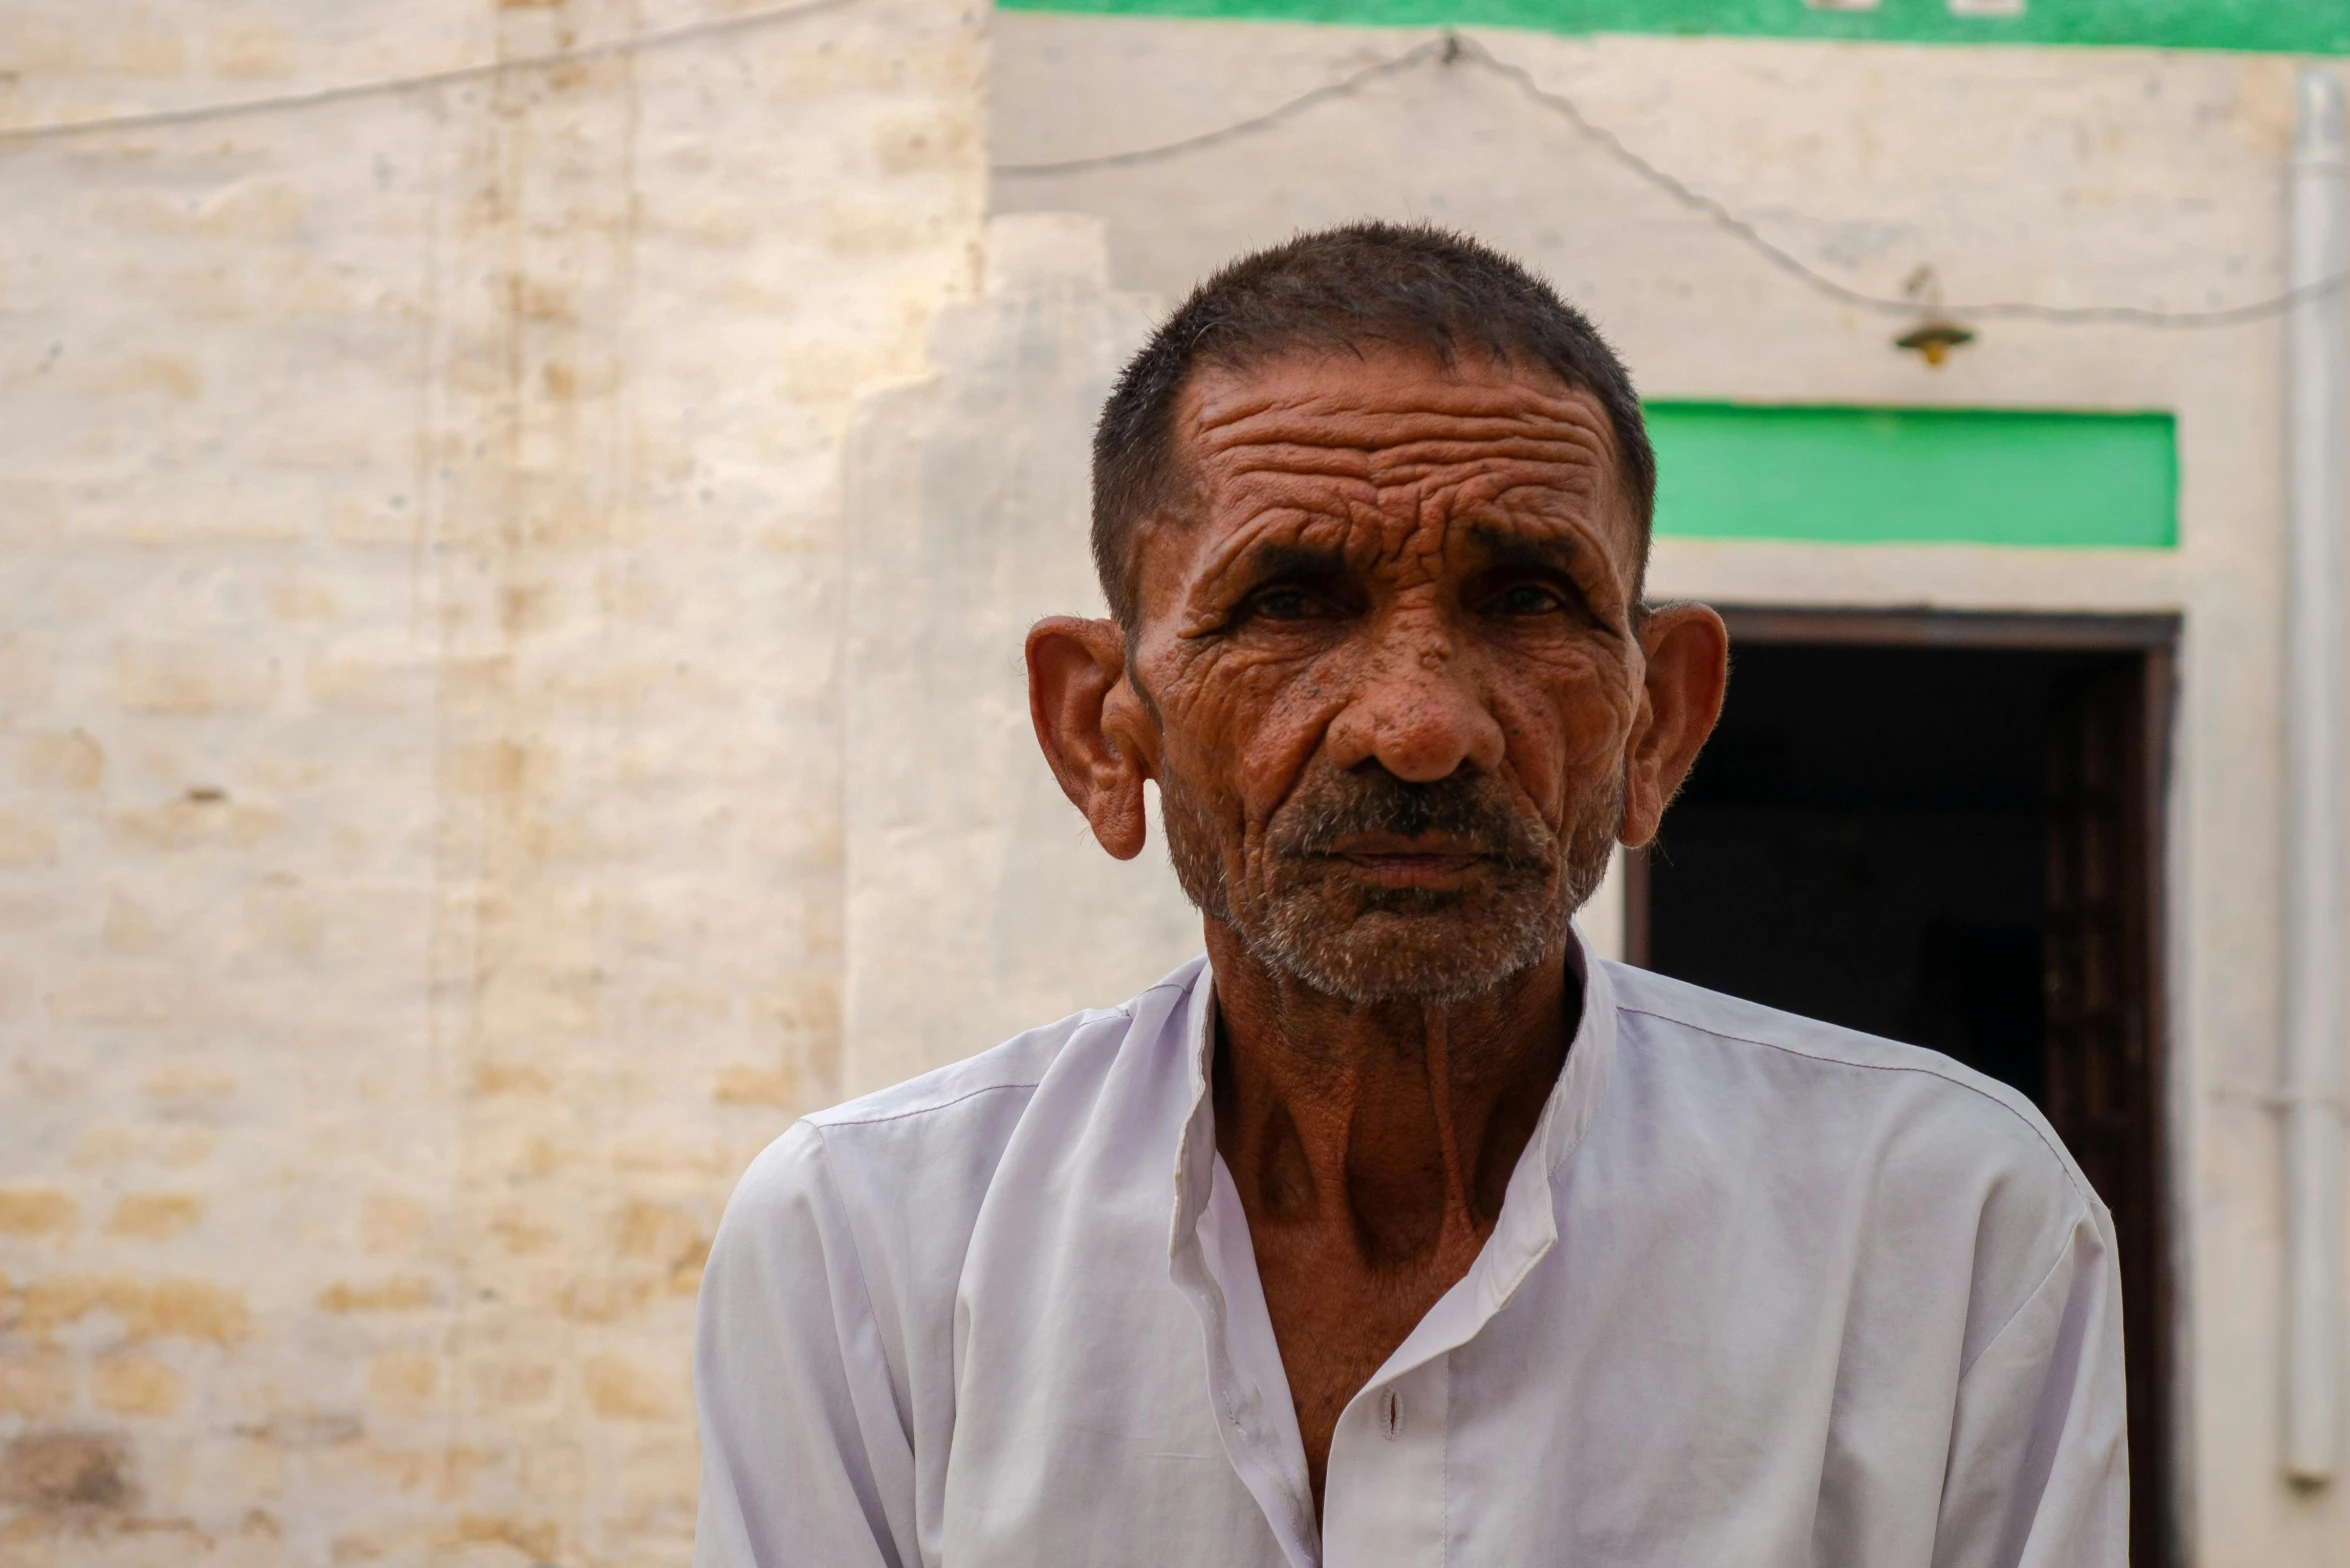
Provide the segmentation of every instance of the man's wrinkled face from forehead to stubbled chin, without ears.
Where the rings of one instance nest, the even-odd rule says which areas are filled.
[[[1184,891],[1351,1001],[1556,954],[1624,818],[1638,543],[1600,407],[1405,350],[1206,369],[1128,679]]]

